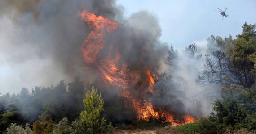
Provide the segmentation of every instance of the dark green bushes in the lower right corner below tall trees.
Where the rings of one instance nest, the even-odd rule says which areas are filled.
[[[200,121],[199,130],[204,132],[224,132],[226,129],[256,130],[256,86],[244,90],[241,86],[231,85],[222,88],[222,99],[214,103],[214,111],[209,118]],[[202,133],[202,132],[200,132]]]

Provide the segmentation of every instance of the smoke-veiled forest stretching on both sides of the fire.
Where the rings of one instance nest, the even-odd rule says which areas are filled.
[[[200,52],[202,47],[197,44],[190,44],[182,51],[191,61],[203,63],[202,71],[194,80],[196,84],[203,88],[216,87],[214,99],[209,102],[212,112],[203,115],[202,100],[198,99],[195,107],[199,111],[184,113],[196,121],[181,123],[175,131],[187,134],[256,132],[256,25],[245,22],[236,39],[230,35],[225,38],[212,35],[207,39],[206,53]],[[177,90],[182,83],[175,81],[176,76],[170,73],[179,66],[179,60],[179,52],[170,46],[164,57],[169,72],[154,76],[158,78],[153,85],[156,95],[151,96],[154,110],[173,107],[171,113],[178,114],[177,109],[182,109],[176,107],[181,102],[173,95],[182,94],[183,91]],[[167,116],[154,117],[152,113],[148,120],[139,118],[138,112],[127,106],[128,97],[121,96],[120,92],[112,93],[115,86],[104,89],[106,86],[101,83],[91,84],[76,76],[70,83],[61,80],[56,86],[37,86],[32,92],[22,88],[17,94],[0,94],[0,133],[97,134],[114,133],[128,125],[139,126],[141,122],[177,123],[167,121]],[[167,108],[162,108],[164,106]]]

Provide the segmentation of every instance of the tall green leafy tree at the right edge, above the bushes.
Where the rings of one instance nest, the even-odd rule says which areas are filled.
[[[238,34],[234,42],[231,63],[238,84],[251,87],[255,83],[256,25],[245,22],[242,28],[242,34]]]

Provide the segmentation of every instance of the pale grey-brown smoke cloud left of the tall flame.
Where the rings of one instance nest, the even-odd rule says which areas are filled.
[[[4,81],[1,92],[57,84],[62,79],[71,81],[77,74],[93,77],[84,71],[81,60],[80,45],[90,31],[77,15],[83,7],[113,20],[122,14],[115,0],[0,1],[3,68],[15,75],[13,81],[17,83]]]

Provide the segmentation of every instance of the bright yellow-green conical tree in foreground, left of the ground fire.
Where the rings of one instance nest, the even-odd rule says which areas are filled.
[[[97,93],[97,89],[92,86],[91,91],[87,91],[84,99],[84,110],[80,114],[80,119],[87,127],[88,134],[107,133],[111,130],[111,123],[107,125],[104,117],[101,117],[103,111],[103,99],[101,94]]]

